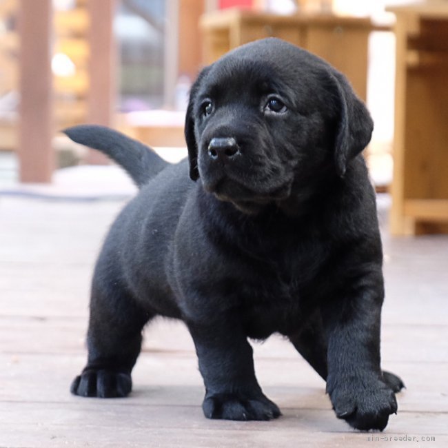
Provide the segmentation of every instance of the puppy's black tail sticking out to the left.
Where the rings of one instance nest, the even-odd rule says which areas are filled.
[[[142,187],[168,162],[150,147],[121,132],[99,125],[79,125],[63,130],[76,143],[99,150],[121,165],[138,187]]]

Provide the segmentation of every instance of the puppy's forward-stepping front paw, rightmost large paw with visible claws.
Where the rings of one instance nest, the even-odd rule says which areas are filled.
[[[397,411],[394,391],[376,378],[347,381],[336,385],[329,395],[336,416],[362,431],[383,431],[389,415]]]

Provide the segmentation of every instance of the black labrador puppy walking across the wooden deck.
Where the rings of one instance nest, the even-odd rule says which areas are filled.
[[[167,164],[107,128],[66,130],[141,187],[99,255],[72,393],[129,394],[143,326],[161,315],[192,334],[207,418],[281,415],[247,341],[278,332],[327,381],[338,418],[384,429],[403,383],[380,369],[382,249],[360,155],[372,128],[340,72],[264,39],[199,74],[188,161]]]

